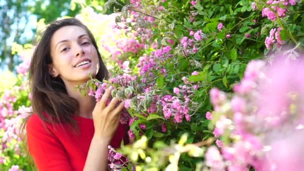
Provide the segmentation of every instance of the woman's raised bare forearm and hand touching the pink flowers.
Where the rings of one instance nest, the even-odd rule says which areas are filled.
[[[107,146],[117,129],[120,119],[120,111],[123,109],[124,101],[117,107],[117,98],[112,98],[106,106],[111,88],[107,88],[93,110],[94,135],[89,146],[83,170],[106,170],[107,169]]]

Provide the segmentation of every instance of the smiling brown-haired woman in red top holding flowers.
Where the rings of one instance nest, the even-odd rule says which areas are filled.
[[[100,81],[108,76],[92,33],[75,18],[50,23],[29,67],[26,140],[38,170],[106,170],[108,145],[128,143],[128,127],[119,123],[124,101],[106,105],[111,88],[98,102],[73,90],[89,73]]]

